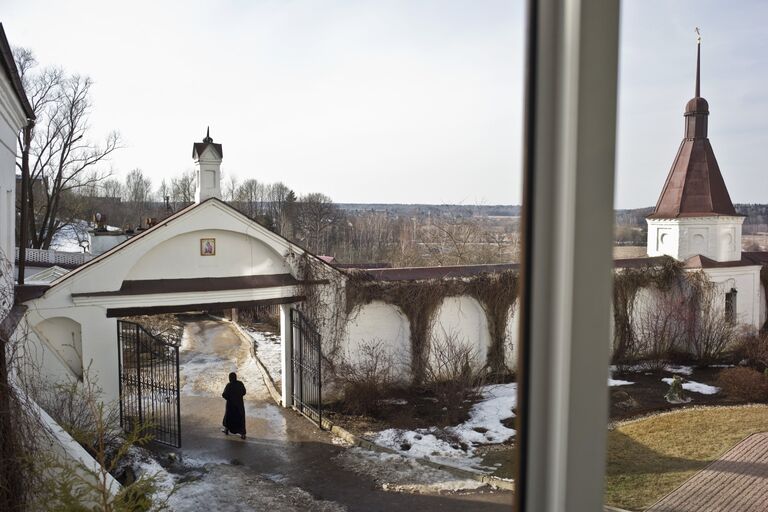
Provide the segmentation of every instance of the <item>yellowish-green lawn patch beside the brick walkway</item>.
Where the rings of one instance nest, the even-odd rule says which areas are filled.
[[[768,406],[685,409],[608,433],[605,502],[642,510],[729,448],[768,431]]]

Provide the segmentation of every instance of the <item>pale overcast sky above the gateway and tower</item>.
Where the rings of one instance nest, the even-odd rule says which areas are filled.
[[[617,207],[655,203],[693,95],[736,202],[768,202],[768,2],[622,2]],[[11,44],[95,81],[94,136],[157,185],[225,174],[338,202],[520,201],[522,0],[5,0]]]

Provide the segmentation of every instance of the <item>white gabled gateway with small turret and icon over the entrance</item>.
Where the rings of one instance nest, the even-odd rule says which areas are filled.
[[[212,144],[210,137],[195,144],[198,174],[217,169],[220,154],[221,146]],[[204,187],[211,181],[204,175],[198,180]],[[208,198],[65,274],[25,301],[22,329],[28,354],[42,375],[52,381],[82,379],[87,368],[98,379],[104,401],[116,401],[123,368],[119,363],[132,357],[126,347],[147,343],[125,325],[118,329],[118,319],[267,304],[281,305],[283,364],[291,364],[290,322],[297,317],[291,314],[291,305],[303,300],[302,286],[312,284],[297,278],[298,260],[306,251],[224,203],[215,187],[209,188],[214,190],[203,190]],[[326,265],[308,253],[307,257]],[[69,326],[77,327],[70,329],[71,335]],[[123,338],[120,343],[119,337]],[[290,384],[291,379],[287,380]],[[164,385],[178,394],[178,386]],[[293,403],[291,392],[283,390],[286,406]]]

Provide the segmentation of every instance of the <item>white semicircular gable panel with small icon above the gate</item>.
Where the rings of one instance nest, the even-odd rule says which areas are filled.
[[[200,255],[200,239],[215,238],[216,254]],[[174,277],[226,277],[289,272],[282,256],[244,233],[221,229],[197,230],[177,235],[153,247],[126,276],[134,279],[168,279],[169,267],[183,270]]]

